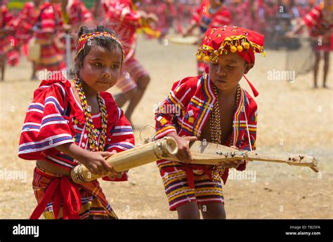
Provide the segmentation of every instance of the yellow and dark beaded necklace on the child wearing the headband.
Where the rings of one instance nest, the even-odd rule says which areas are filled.
[[[100,131],[100,140],[98,143],[98,130],[93,125],[93,119],[91,118],[91,109],[86,102],[86,95],[84,95],[84,90],[82,88],[81,81],[77,78],[75,81],[75,87],[79,93],[79,98],[81,101],[81,106],[84,111],[84,119],[86,121],[86,130],[88,131],[89,149],[91,152],[103,152],[106,140],[106,128],[107,128],[107,112],[105,103],[100,97],[100,92],[97,92],[98,105],[100,107],[100,119],[102,121],[102,130]]]

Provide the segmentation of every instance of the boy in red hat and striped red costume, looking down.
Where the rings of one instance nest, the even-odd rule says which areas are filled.
[[[255,149],[256,102],[239,81],[254,67],[254,53],[261,52],[261,34],[240,27],[208,29],[197,58],[209,62],[209,69],[201,76],[176,81],[157,109],[156,138],[174,137],[179,148],[177,157],[186,162],[157,161],[169,209],[177,210],[181,219],[198,219],[200,210],[203,218],[226,217],[222,180],[225,184],[228,168],[244,170],[246,163],[191,165],[189,143],[202,140]]]

